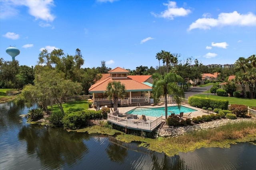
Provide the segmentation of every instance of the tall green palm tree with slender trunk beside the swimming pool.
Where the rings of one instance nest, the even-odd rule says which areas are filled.
[[[182,82],[183,78],[173,72],[164,75],[155,73],[152,75],[152,78],[154,80],[154,98],[158,99],[160,96],[164,95],[165,119],[167,119],[167,94],[171,94],[178,106],[180,106],[181,98],[184,98],[184,92],[177,85],[177,82]]]

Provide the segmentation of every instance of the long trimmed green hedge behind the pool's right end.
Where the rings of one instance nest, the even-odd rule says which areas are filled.
[[[206,108],[221,108],[228,109],[228,100],[218,100],[212,98],[203,98],[197,96],[188,97],[188,104],[194,107],[206,107]]]

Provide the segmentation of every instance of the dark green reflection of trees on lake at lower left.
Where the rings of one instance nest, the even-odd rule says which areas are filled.
[[[24,126],[18,134],[19,140],[27,143],[27,153],[36,154],[42,166],[51,169],[69,166],[81,160],[88,148],[83,140],[88,140],[86,133],[68,133],[62,128],[45,128],[34,125]]]

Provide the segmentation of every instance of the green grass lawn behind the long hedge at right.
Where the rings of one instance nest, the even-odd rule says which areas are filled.
[[[196,94],[194,96],[207,98],[207,94]],[[244,98],[235,98],[235,97],[223,97],[209,94],[209,98],[219,99],[219,100],[228,100],[229,104],[243,104],[246,106],[256,107],[256,99],[244,99]]]

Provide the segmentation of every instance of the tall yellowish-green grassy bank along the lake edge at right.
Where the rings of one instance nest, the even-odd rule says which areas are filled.
[[[194,131],[176,138],[143,139],[134,135],[118,135],[117,140],[123,142],[138,141],[141,146],[156,152],[164,152],[168,156],[178,152],[192,152],[202,147],[230,147],[237,142],[254,141],[256,145],[256,121],[227,124],[216,129]]]

